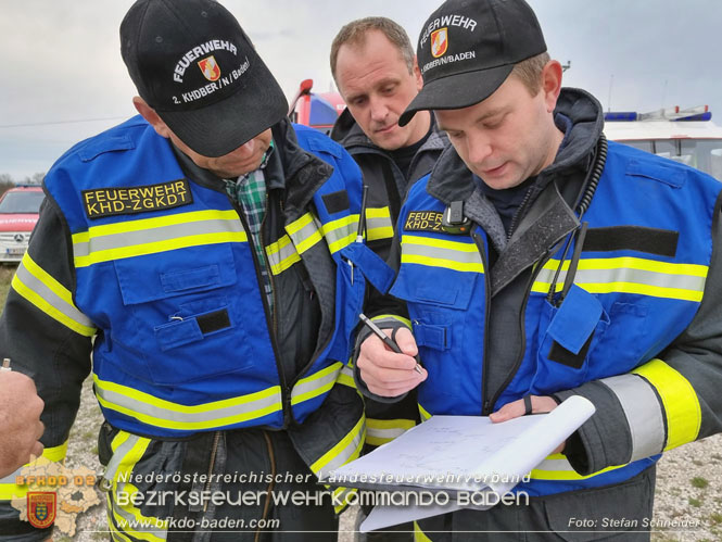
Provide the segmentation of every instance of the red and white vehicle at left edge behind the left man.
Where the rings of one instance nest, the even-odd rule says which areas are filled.
[[[43,198],[37,185],[17,186],[0,197],[0,263],[23,259]]]

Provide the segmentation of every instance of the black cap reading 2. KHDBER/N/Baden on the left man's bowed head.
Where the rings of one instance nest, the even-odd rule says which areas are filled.
[[[121,24],[138,93],[204,156],[221,156],[288,114],[280,86],[214,0],[138,0]]]

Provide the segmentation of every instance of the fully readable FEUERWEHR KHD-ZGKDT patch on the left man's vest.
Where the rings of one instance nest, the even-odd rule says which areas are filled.
[[[83,191],[88,218],[162,211],[193,203],[187,179],[132,188],[98,188]]]

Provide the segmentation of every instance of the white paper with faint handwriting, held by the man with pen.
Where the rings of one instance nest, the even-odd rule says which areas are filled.
[[[329,472],[325,481],[378,489],[490,488],[505,493],[592,414],[594,405],[590,401],[572,396],[549,414],[503,424],[492,424],[484,416],[432,416],[370,454]]]

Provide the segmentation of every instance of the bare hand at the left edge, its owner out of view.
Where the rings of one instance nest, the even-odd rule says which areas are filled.
[[[0,478],[42,454],[43,406],[29,377],[0,371]]]

